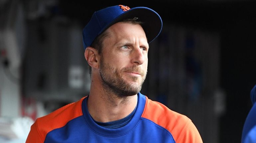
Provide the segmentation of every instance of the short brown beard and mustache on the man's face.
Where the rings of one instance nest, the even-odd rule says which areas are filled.
[[[111,67],[109,64],[106,64],[103,58],[102,58],[102,61],[100,61],[99,72],[100,72],[100,76],[105,89],[110,90],[111,92],[113,92],[119,97],[127,97],[127,96],[138,94],[141,90],[142,84],[147,74],[147,71],[145,73],[138,66],[122,68],[120,71],[118,71],[117,69]],[[142,81],[140,85],[135,86],[125,81],[122,78],[123,72],[137,72],[140,75],[142,75]],[[137,76],[129,76],[129,77],[133,81],[137,81],[139,78]]]

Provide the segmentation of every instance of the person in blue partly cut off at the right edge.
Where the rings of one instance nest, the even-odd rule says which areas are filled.
[[[250,96],[252,107],[244,122],[241,143],[256,143],[256,85]]]

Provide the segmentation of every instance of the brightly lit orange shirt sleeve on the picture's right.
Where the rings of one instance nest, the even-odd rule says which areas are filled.
[[[148,99],[147,96],[142,117],[169,130],[176,143],[202,143],[201,136],[191,119]]]

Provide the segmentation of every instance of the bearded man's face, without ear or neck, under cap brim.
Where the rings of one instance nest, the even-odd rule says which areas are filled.
[[[103,85],[118,96],[136,95],[146,78],[148,42],[139,24],[116,23],[103,41],[100,76]]]

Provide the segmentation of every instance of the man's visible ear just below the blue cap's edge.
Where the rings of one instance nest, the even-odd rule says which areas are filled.
[[[98,56],[98,51],[92,47],[87,47],[84,51],[84,57],[92,68],[99,68]]]

